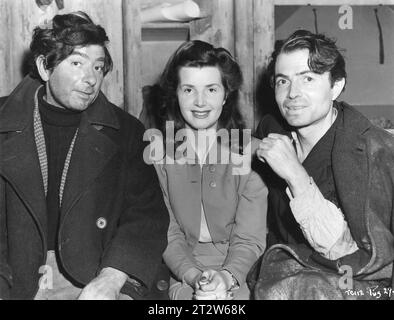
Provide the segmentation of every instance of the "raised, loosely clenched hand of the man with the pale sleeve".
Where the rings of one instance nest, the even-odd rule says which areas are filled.
[[[288,136],[270,133],[262,140],[256,154],[286,181],[294,197],[308,187],[309,175],[298,160]]]

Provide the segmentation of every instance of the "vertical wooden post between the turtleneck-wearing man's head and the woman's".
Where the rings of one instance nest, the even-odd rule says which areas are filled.
[[[138,117],[142,110],[140,0],[123,0],[124,109]]]

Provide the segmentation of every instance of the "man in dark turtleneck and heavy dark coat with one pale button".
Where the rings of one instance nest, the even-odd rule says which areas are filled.
[[[31,75],[0,101],[1,299],[156,286],[168,212],[144,127],[100,92],[107,41],[83,12],[55,16],[34,30]]]

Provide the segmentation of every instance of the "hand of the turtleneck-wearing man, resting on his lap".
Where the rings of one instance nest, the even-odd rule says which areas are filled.
[[[104,268],[82,290],[78,300],[117,300],[127,274],[114,268]]]

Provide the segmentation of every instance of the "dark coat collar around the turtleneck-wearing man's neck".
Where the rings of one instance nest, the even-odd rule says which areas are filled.
[[[34,94],[41,82],[26,76],[15,88],[0,109],[0,133],[23,131],[33,117]],[[93,104],[84,111],[89,124],[119,129],[115,111],[108,108],[110,102],[102,92]]]

